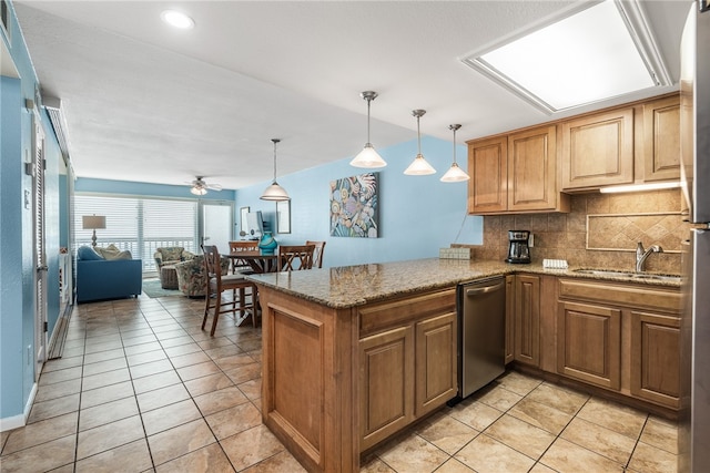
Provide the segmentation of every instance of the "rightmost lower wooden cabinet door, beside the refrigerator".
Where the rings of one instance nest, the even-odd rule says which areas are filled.
[[[631,394],[680,408],[680,319],[631,312]]]

